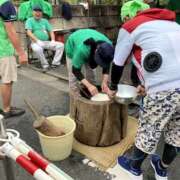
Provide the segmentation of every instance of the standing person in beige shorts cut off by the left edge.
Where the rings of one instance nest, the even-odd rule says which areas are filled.
[[[19,63],[27,63],[27,55],[20,45],[20,41],[13,26],[16,20],[16,10],[11,1],[0,0],[0,76],[3,109],[0,114],[4,118],[18,116],[25,113],[24,109],[11,106],[13,82],[17,81],[17,64],[15,50]]]

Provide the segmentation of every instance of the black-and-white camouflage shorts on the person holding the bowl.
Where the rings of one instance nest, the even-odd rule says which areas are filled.
[[[145,153],[154,153],[162,133],[166,143],[180,147],[180,89],[147,95],[143,108],[136,147]]]

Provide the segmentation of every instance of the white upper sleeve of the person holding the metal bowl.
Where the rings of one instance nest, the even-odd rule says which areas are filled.
[[[134,39],[131,34],[121,28],[119,31],[113,62],[118,66],[124,66],[134,45]]]

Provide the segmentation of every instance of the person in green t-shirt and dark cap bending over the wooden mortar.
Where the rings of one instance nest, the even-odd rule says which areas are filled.
[[[102,92],[108,88],[108,74],[113,60],[112,42],[102,33],[92,29],[81,29],[72,33],[65,44],[66,61],[69,72],[69,86],[74,95],[79,96],[78,80],[93,96],[98,93],[94,69],[99,65],[103,69]],[[85,67],[86,78],[81,73]]]

